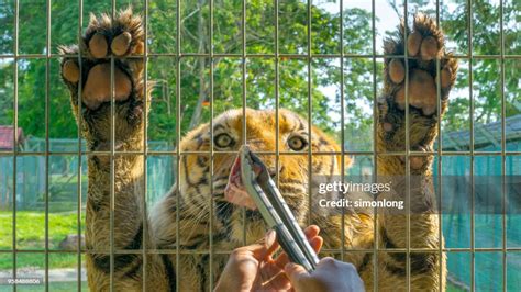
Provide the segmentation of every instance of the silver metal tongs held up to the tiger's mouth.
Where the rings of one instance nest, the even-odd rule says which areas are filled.
[[[306,239],[304,233],[275,186],[268,169],[246,145],[242,146],[239,155],[242,183],[257,205],[264,221],[277,233],[280,247],[290,261],[301,265],[308,272],[313,271],[319,257]]]

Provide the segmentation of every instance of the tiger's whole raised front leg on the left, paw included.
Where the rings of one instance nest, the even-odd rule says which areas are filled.
[[[110,151],[111,145],[118,153],[143,150],[147,103],[142,80],[144,63],[140,58],[143,38],[141,18],[125,10],[114,20],[106,14],[91,16],[80,47],[60,48],[64,55],[81,53],[81,59],[66,56],[62,60],[62,77],[70,91],[73,112],[90,151]],[[144,228],[147,220],[142,216],[143,162],[143,156],[134,154],[88,156],[85,233],[88,282],[92,291],[109,290],[111,274],[115,291],[140,291],[144,268],[147,290],[165,291],[169,284],[165,265],[157,255],[147,257],[146,267],[143,265],[143,243],[154,248]],[[114,198],[111,198],[112,188]],[[111,258],[112,249],[117,252]]]

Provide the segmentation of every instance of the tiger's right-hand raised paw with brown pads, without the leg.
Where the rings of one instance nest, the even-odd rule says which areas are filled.
[[[386,43],[385,54],[403,55],[406,47],[409,56],[407,69],[403,58],[388,57],[385,60],[385,93],[389,97],[388,102],[399,110],[404,110],[408,103],[423,115],[433,115],[437,112],[437,82],[440,97],[445,102],[456,80],[457,63],[445,52],[443,34],[434,20],[423,14],[414,16],[412,32],[408,33],[407,41],[402,29],[399,40]],[[409,75],[408,90],[406,74]]]

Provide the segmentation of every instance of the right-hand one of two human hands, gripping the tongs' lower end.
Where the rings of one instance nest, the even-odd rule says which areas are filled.
[[[296,292],[365,291],[355,266],[330,257],[321,259],[311,273],[292,262],[286,265],[284,270]]]

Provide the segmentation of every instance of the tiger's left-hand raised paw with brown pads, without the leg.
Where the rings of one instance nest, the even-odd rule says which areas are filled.
[[[60,47],[60,53],[81,53],[81,72],[77,57],[62,60],[62,77],[75,103],[80,81],[81,102],[88,110],[109,104],[112,96],[115,102],[142,99],[144,60],[135,56],[144,53],[143,26],[141,18],[133,15],[130,9],[113,20],[107,14],[91,15],[80,47]],[[114,58],[113,66],[111,58]]]

